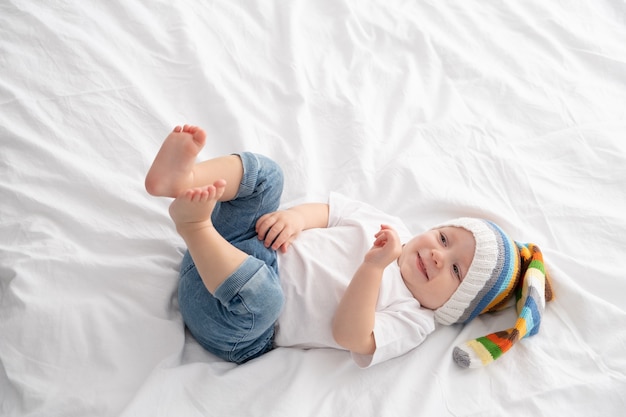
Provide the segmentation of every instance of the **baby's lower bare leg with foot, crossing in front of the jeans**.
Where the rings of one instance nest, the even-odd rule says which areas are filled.
[[[185,240],[202,282],[211,294],[248,255],[225,240],[213,226],[211,213],[223,197],[226,181],[181,193],[170,205],[176,230]]]

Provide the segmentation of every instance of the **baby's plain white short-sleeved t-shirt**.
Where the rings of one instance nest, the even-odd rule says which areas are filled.
[[[374,242],[381,224],[398,231],[402,242],[412,236],[396,217],[340,194],[329,198],[328,228],[303,231],[278,268],[285,307],[275,343],[283,347],[343,349],[332,336],[332,319],[352,276]],[[420,307],[392,262],[384,271],[378,295],[373,355],[352,354],[362,368],[415,348],[435,329],[433,312]]]

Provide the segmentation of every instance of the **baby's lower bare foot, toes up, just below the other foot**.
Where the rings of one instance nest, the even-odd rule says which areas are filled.
[[[225,189],[226,181],[217,180],[212,185],[192,188],[176,197],[170,205],[170,217],[179,233],[212,226],[211,213]]]

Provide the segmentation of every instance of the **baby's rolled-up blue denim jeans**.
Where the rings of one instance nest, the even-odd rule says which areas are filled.
[[[239,157],[244,174],[237,196],[218,203],[211,219],[227,241],[249,256],[212,295],[187,251],[178,301],[183,320],[200,345],[227,361],[243,363],[272,349],[274,324],[284,304],[276,252],[266,248],[255,231],[260,216],[278,209],[283,175],[264,156]]]

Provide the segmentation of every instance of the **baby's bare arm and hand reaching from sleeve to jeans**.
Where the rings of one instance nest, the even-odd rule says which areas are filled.
[[[286,252],[301,231],[326,226],[328,204],[308,203],[261,216],[256,223],[256,232],[266,247]]]

